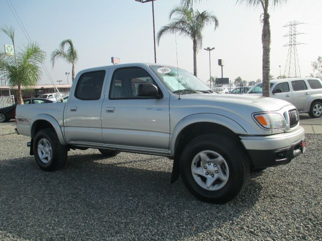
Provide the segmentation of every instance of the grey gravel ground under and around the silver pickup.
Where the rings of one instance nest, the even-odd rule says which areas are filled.
[[[70,151],[66,168],[44,172],[28,137],[0,125],[0,138],[0,240],[322,239],[322,135],[223,205],[170,184],[164,157]]]

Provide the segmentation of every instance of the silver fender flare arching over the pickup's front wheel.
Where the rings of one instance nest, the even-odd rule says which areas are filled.
[[[233,119],[226,117],[220,114],[214,113],[198,113],[198,114],[191,114],[186,116],[185,118],[181,119],[181,121],[176,125],[174,131],[170,137],[170,154],[171,156],[175,156],[175,150],[178,142],[178,137],[180,136],[181,132],[191,124],[201,123],[201,122],[208,122],[213,124],[218,124],[224,126],[234,132],[235,134],[245,135],[247,131],[240,126],[237,122]]]

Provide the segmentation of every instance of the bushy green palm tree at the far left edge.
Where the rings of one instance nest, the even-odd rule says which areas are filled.
[[[15,30],[7,26],[2,28],[14,45],[15,49]],[[28,44],[24,50],[14,56],[0,58],[0,75],[8,78],[8,83],[18,86],[18,102],[23,104],[21,86],[31,87],[37,84],[41,76],[40,64],[45,60],[45,52],[40,49],[37,43]]]

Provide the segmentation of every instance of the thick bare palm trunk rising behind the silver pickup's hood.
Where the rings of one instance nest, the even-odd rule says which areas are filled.
[[[267,6],[268,7],[268,6]],[[263,45],[263,96],[270,96],[270,52],[271,52],[271,29],[268,8],[264,11],[262,45]]]

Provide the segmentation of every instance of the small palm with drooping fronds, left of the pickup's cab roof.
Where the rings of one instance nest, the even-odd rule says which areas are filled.
[[[69,47],[67,49],[67,52],[65,52],[65,45],[67,45],[67,44],[69,45]],[[51,53],[50,60],[52,63],[52,67],[54,67],[54,65],[55,65],[56,58],[64,59],[65,61],[67,61],[68,63],[70,63],[72,65],[71,79],[72,79],[72,81],[74,81],[74,79],[75,79],[75,63],[78,60],[78,56],[77,56],[77,51],[74,48],[74,45],[70,39],[63,40],[59,45],[59,49],[55,49]]]

